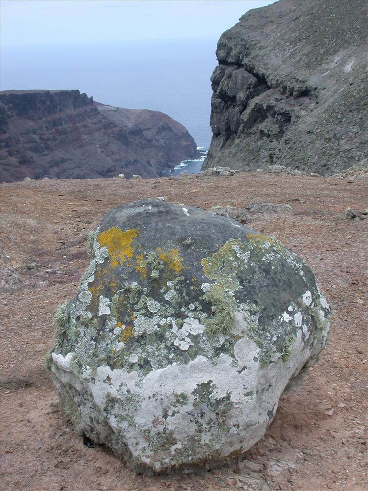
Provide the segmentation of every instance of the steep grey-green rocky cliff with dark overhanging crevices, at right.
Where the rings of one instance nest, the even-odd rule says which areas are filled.
[[[365,0],[281,0],[222,34],[203,168],[325,175],[368,157]]]

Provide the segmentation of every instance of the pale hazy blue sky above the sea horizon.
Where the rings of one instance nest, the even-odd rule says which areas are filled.
[[[218,39],[274,0],[0,0],[2,47]]]

